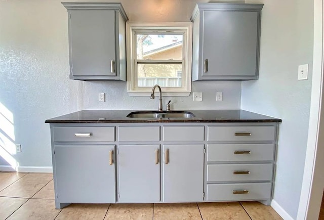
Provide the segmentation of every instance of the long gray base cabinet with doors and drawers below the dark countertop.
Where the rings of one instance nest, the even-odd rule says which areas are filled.
[[[270,204],[278,123],[51,123],[56,208]]]

